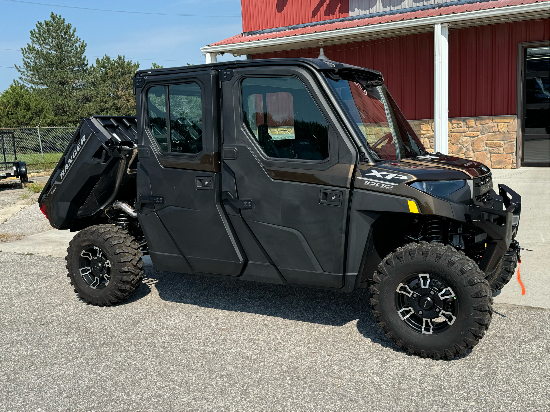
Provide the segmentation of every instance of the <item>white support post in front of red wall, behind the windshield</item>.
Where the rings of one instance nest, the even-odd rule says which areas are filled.
[[[433,25],[433,151],[448,154],[449,24]]]

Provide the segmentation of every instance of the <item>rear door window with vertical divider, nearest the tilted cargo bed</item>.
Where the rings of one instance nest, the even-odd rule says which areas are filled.
[[[202,98],[197,83],[151,87],[147,92],[147,110],[149,130],[161,151],[189,154],[202,151]]]

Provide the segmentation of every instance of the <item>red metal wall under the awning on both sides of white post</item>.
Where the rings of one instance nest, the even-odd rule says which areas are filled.
[[[548,20],[449,30],[449,117],[516,114],[518,43],[549,39]],[[317,57],[318,48],[249,58]],[[324,48],[331,60],[379,70],[409,120],[433,118],[433,34]]]

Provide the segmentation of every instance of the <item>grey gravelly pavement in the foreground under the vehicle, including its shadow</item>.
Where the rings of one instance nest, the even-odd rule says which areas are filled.
[[[547,309],[495,304],[471,353],[436,361],[393,346],[365,289],[147,265],[131,299],[98,308],[64,264],[0,253],[1,410],[550,409]]]

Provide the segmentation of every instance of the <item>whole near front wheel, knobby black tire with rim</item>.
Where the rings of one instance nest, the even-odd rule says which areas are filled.
[[[491,289],[475,261],[441,243],[390,253],[371,285],[378,326],[399,348],[452,359],[476,346],[492,316]]]

